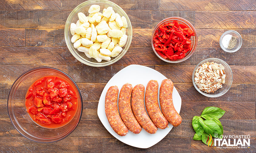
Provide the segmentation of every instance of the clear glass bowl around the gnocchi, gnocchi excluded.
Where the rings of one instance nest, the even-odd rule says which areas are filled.
[[[128,27],[126,29],[126,35],[128,36],[127,42],[126,42],[125,46],[122,47],[123,48],[122,52],[116,57],[111,57],[110,61],[102,60],[101,62],[97,62],[94,58],[88,58],[87,56],[85,56],[85,54],[83,52],[79,52],[77,49],[75,49],[73,46],[73,43],[71,42],[72,35],[70,33],[70,24],[77,22],[77,20],[78,20],[77,13],[79,13],[79,12],[83,12],[86,16],[88,16],[89,15],[88,10],[89,10],[90,6],[94,5],[94,4],[101,6],[100,12],[102,12],[102,10],[104,8],[107,8],[109,6],[112,7],[116,13],[118,13],[121,16],[124,16],[128,23]],[[70,13],[70,15],[67,18],[66,25],[65,25],[64,35],[65,35],[65,41],[66,41],[66,44],[67,44],[67,47],[68,47],[70,53],[81,63],[84,63],[89,66],[97,66],[97,67],[108,66],[108,65],[113,64],[113,63],[117,62],[118,60],[120,60],[125,55],[127,50],[129,49],[129,47],[131,45],[131,39],[132,39],[132,27],[131,27],[131,21],[130,21],[128,15],[117,4],[107,1],[107,0],[89,0],[89,1],[83,2],[80,5],[78,5]]]

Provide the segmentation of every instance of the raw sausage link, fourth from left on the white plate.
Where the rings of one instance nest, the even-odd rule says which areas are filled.
[[[159,108],[157,94],[158,94],[158,82],[156,80],[150,80],[148,82],[148,85],[146,88],[146,94],[145,94],[146,109],[148,111],[149,117],[151,118],[153,123],[156,125],[156,127],[160,129],[165,129],[169,123]]]

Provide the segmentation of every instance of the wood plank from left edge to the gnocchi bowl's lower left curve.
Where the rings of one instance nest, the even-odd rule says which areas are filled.
[[[2,53],[0,64],[81,64],[67,47],[0,47],[0,51]]]

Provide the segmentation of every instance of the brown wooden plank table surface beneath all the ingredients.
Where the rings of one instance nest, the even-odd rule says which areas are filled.
[[[112,0],[128,14],[133,38],[128,52],[110,66],[90,67],[67,49],[64,25],[70,12],[84,0],[0,1],[0,151],[1,152],[255,152],[256,151],[256,2],[255,0]],[[162,19],[179,16],[191,22],[198,35],[195,53],[170,64],[153,52],[153,28]],[[241,49],[225,53],[219,46],[228,29],[243,38]],[[230,90],[218,98],[201,95],[192,84],[192,71],[200,61],[216,57],[226,61],[234,75]],[[182,98],[182,124],[148,149],[118,141],[101,124],[97,104],[101,92],[119,70],[130,64],[149,66],[175,83]],[[83,97],[82,119],[70,136],[55,143],[36,143],[22,137],[10,122],[7,97],[19,75],[39,66],[50,66],[70,75]],[[224,135],[250,135],[251,147],[220,150],[192,140],[192,118],[208,106],[226,111],[220,121]]]

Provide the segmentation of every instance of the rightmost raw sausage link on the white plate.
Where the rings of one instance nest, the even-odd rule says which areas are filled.
[[[172,91],[173,91],[173,83],[169,79],[165,79],[162,81],[160,86],[160,106],[162,112],[166,119],[169,121],[170,124],[173,126],[178,126],[181,124],[181,117],[174,108],[172,102]]]

